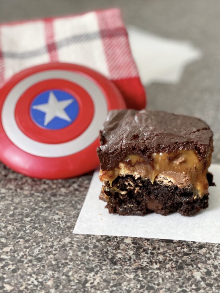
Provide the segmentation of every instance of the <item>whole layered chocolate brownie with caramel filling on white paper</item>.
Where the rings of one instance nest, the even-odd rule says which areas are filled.
[[[102,190],[110,213],[177,211],[208,207],[213,133],[202,120],[162,111],[113,110],[100,131]]]

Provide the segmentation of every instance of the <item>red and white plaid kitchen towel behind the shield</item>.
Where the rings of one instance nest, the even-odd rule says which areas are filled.
[[[117,8],[0,24],[0,87],[18,71],[49,62],[97,70],[116,84],[129,108],[145,107],[145,91]]]

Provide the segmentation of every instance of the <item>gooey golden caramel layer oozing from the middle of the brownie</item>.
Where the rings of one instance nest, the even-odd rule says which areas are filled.
[[[135,178],[149,178],[153,184],[160,173],[172,171],[182,174],[189,180],[195,196],[198,194],[202,197],[207,193],[209,183],[206,176],[211,163],[211,154],[207,156],[205,167],[193,150],[170,154],[153,153],[151,158],[151,161],[145,162],[140,156],[128,155],[118,167],[109,171],[100,170],[99,178],[102,182],[109,181],[111,185],[118,176],[133,175]]]

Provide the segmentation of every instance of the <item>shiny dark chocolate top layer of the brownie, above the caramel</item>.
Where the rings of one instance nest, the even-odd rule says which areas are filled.
[[[97,154],[102,170],[110,170],[128,154],[150,161],[150,154],[195,150],[201,161],[213,151],[213,133],[199,118],[163,111],[112,110],[100,131]]]

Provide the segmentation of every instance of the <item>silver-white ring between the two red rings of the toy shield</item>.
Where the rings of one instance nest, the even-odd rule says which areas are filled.
[[[78,84],[86,90],[94,104],[94,116],[87,129],[77,138],[60,144],[37,142],[26,136],[15,120],[15,107],[20,96],[34,84],[48,79],[65,79]],[[100,109],[100,110],[99,110]],[[89,147],[98,137],[108,112],[105,95],[101,88],[86,76],[68,70],[47,70],[32,74],[16,84],[8,93],[2,107],[2,125],[9,139],[20,149],[29,154],[56,158],[76,154]]]

